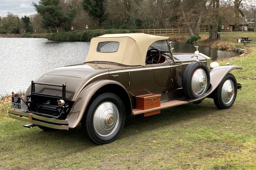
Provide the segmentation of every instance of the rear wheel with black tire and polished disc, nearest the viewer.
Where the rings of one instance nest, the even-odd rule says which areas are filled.
[[[124,122],[125,109],[121,99],[113,93],[103,93],[88,106],[82,127],[94,143],[101,145],[114,141],[120,135]]]

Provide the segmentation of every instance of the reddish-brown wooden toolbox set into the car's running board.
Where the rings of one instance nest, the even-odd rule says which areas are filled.
[[[147,110],[155,107],[160,107],[161,94],[145,94],[136,96],[136,108],[140,110]],[[147,113],[142,113],[140,116],[146,117],[150,115],[159,114],[160,110],[155,110]]]

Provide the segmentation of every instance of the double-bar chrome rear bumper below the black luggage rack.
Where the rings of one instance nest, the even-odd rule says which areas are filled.
[[[8,116],[13,119],[34,123],[39,126],[45,126],[53,129],[68,130],[68,120],[57,120],[57,119],[51,119],[43,116],[38,116],[32,113],[18,112],[16,110],[10,109],[10,107],[8,107]],[[33,118],[36,120],[34,120]]]

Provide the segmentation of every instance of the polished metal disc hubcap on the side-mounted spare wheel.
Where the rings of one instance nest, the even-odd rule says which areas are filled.
[[[207,77],[205,71],[203,69],[197,69],[192,76],[191,82],[192,90],[197,96],[205,92],[206,82]]]

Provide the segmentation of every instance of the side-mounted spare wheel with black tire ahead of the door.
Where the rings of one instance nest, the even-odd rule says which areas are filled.
[[[188,99],[202,96],[210,86],[210,72],[201,61],[188,64],[182,77],[183,93]]]

